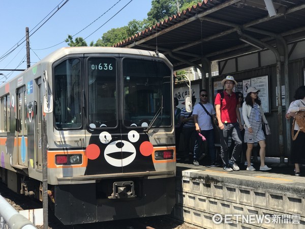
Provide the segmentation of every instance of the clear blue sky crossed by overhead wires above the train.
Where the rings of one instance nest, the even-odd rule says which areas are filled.
[[[64,42],[68,35],[76,35],[73,40],[86,38],[87,45],[96,43],[111,28],[147,18],[151,8],[151,0],[69,0],[64,5],[66,1],[0,0],[0,73],[8,80],[21,72],[1,69],[26,69],[25,27],[29,28],[32,66],[56,49],[68,47]],[[0,81],[6,80],[4,75]]]

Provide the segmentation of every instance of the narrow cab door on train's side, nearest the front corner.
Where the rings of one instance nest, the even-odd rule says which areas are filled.
[[[42,94],[41,94],[41,78],[37,80],[37,101],[35,101],[35,125],[36,125],[36,165],[38,169],[42,169],[42,150],[41,150],[41,120],[42,120]]]

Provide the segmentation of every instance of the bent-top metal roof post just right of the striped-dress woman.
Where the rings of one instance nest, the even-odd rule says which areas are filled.
[[[237,29],[237,33],[239,36],[241,36],[242,38],[246,38],[249,41],[254,42],[255,44],[258,44],[262,47],[266,47],[268,49],[270,49],[276,56],[276,60],[277,60],[277,93],[278,93],[278,127],[279,127],[279,151],[280,151],[280,162],[284,163],[284,138],[283,138],[283,108],[282,108],[282,77],[281,77],[281,56],[279,51],[265,43],[262,42],[256,38],[253,38],[249,35],[246,35],[244,33],[241,32],[240,28]]]

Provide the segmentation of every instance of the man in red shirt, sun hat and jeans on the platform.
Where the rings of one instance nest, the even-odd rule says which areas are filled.
[[[236,164],[236,160],[241,152],[242,138],[240,130],[242,130],[242,126],[239,109],[237,107],[238,100],[232,91],[237,82],[233,76],[228,75],[221,83],[225,86],[225,90],[222,92],[223,96],[221,93],[218,93],[215,98],[216,117],[219,123],[221,158],[224,162],[225,171],[238,171],[239,167]],[[229,136],[235,142],[230,160],[228,149]]]

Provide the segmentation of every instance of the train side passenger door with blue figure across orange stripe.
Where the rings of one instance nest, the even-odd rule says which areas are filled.
[[[25,119],[25,104],[26,104],[26,90],[25,87],[19,88],[16,99],[16,149],[17,161],[19,165],[27,167],[27,125]]]

